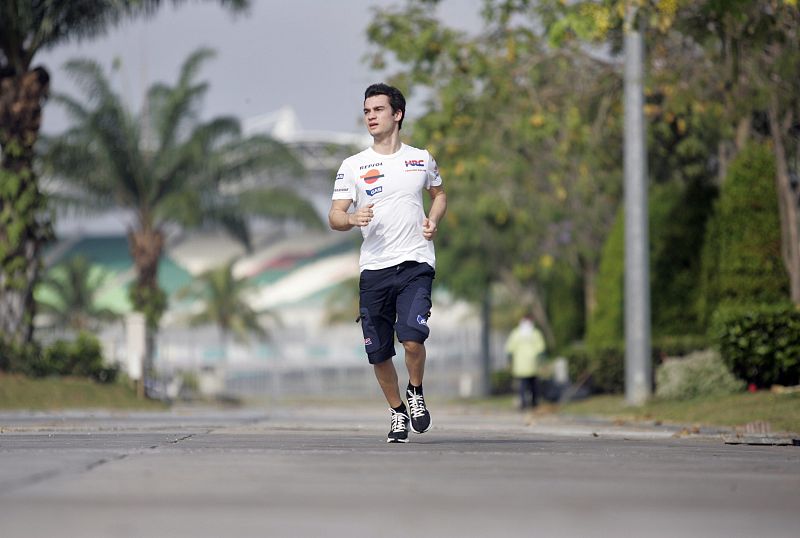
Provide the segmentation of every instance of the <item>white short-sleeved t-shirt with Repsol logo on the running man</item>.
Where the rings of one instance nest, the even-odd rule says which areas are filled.
[[[431,154],[406,144],[391,155],[367,148],[342,162],[333,199],[352,200],[356,208],[375,204],[372,221],[361,227],[362,271],[405,261],[435,267],[433,241],[422,235],[422,191],[441,184],[439,168]]]

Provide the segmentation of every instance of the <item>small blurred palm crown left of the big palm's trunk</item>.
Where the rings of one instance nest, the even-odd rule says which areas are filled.
[[[50,269],[37,287],[37,306],[50,325],[74,331],[96,330],[102,323],[120,318],[113,310],[99,306],[97,296],[110,273],[84,256],[73,256]]]

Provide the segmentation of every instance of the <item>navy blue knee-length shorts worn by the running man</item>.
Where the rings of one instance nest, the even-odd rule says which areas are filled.
[[[361,271],[359,311],[370,364],[395,355],[395,333],[400,342],[428,338],[434,275],[433,267],[420,262]]]

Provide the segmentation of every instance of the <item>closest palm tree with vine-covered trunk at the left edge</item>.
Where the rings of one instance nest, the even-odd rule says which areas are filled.
[[[216,0],[233,10],[249,0]],[[52,236],[33,170],[50,75],[37,53],[102,34],[121,20],[149,15],[162,0],[0,2],[0,339],[31,340],[43,244]],[[180,0],[173,0],[173,4]]]

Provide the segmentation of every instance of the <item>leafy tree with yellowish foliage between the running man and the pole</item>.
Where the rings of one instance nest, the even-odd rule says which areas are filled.
[[[442,26],[435,4],[383,10],[369,36],[374,65],[393,55],[404,67],[393,82],[429,96],[413,139],[440,160],[452,193],[437,263],[474,301],[502,282],[552,344],[544,282],[554,260],[581,275],[585,311],[594,307],[621,183],[621,78],[578,49],[548,49],[526,2],[487,2],[472,37]]]

